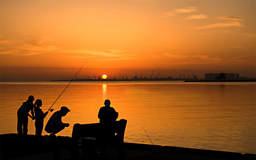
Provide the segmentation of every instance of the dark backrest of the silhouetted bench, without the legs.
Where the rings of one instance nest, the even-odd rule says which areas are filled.
[[[75,124],[72,131],[72,141],[77,142],[80,138],[108,138],[114,137],[118,142],[124,142],[124,134],[127,120],[120,119],[115,122]]]

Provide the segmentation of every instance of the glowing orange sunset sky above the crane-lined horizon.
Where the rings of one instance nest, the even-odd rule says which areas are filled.
[[[256,1],[0,1],[1,81],[255,77]],[[192,76],[191,76],[192,77]]]

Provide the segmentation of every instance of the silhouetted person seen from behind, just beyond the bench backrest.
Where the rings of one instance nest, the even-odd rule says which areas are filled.
[[[110,100],[106,99],[104,105],[104,107],[100,108],[98,114],[100,123],[116,121],[118,113],[115,111],[113,107],[110,107]]]

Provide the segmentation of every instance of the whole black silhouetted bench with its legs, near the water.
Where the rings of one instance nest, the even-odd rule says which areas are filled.
[[[118,158],[125,159],[124,133],[127,120],[115,122],[75,124],[69,143],[55,142],[54,159],[60,159],[60,150],[69,150],[71,158],[79,156],[78,149],[82,147],[83,156],[91,157],[95,146],[100,147],[100,153],[106,154],[106,147],[117,148]],[[81,145],[80,145],[81,144]]]

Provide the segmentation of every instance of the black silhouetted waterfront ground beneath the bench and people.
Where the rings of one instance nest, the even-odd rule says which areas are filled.
[[[52,160],[53,145],[51,142],[38,142],[34,135],[20,138],[16,133],[0,135],[1,160]],[[102,159],[99,148],[95,148],[94,160]],[[224,151],[192,149],[182,147],[125,143],[128,160],[255,160],[255,154],[241,154]],[[61,151],[61,159],[71,160],[69,151]],[[78,160],[85,159],[80,149]],[[104,160],[116,160],[117,149],[108,148]]]

